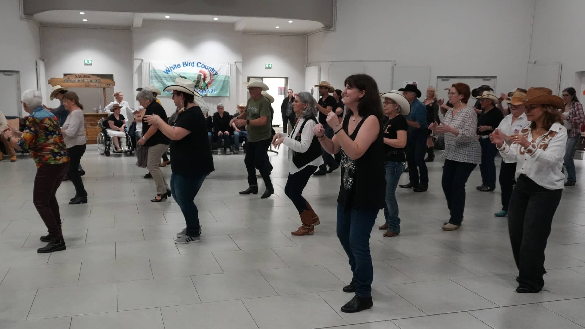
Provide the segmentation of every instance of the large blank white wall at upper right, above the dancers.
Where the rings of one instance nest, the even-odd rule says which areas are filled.
[[[308,37],[308,63],[396,60],[430,66],[431,84],[437,76],[497,76],[497,91],[508,92],[525,86],[533,6],[534,0],[338,0],[336,30]]]

